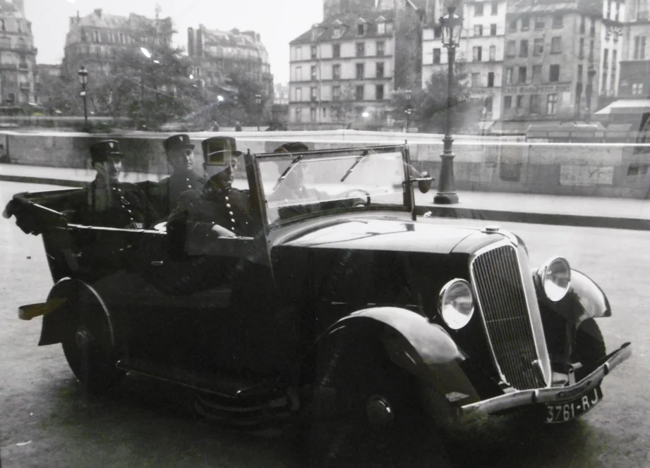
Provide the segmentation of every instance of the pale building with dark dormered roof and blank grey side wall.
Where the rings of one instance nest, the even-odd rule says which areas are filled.
[[[323,6],[325,21],[289,44],[289,122],[294,128],[390,123],[392,92],[421,82],[426,10],[410,0]]]

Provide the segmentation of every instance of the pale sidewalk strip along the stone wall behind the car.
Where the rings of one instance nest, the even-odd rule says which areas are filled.
[[[160,180],[166,174],[124,173],[124,182]],[[81,187],[95,178],[88,169],[0,164],[0,180]],[[650,200],[563,197],[503,192],[458,192],[455,205],[434,205],[435,189],[416,193],[417,213],[486,221],[650,230]]]

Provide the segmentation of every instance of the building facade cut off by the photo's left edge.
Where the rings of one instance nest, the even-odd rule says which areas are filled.
[[[23,0],[0,0],[0,109],[36,103],[36,54]]]

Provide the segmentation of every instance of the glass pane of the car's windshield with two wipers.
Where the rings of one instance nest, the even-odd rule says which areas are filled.
[[[404,207],[402,152],[260,159],[267,221],[330,210]]]

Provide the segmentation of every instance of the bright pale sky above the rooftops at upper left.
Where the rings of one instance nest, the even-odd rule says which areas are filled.
[[[289,42],[323,20],[322,0],[24,0],[25,16],[32,22],[37,63],[61,63],[71,16],[106,13],[153,18],[160,5],[162,18],[171,16],[178,33],[176,45],[187,47],[187,28],[259,32],[271,61],[275,83],[289,82]]]

